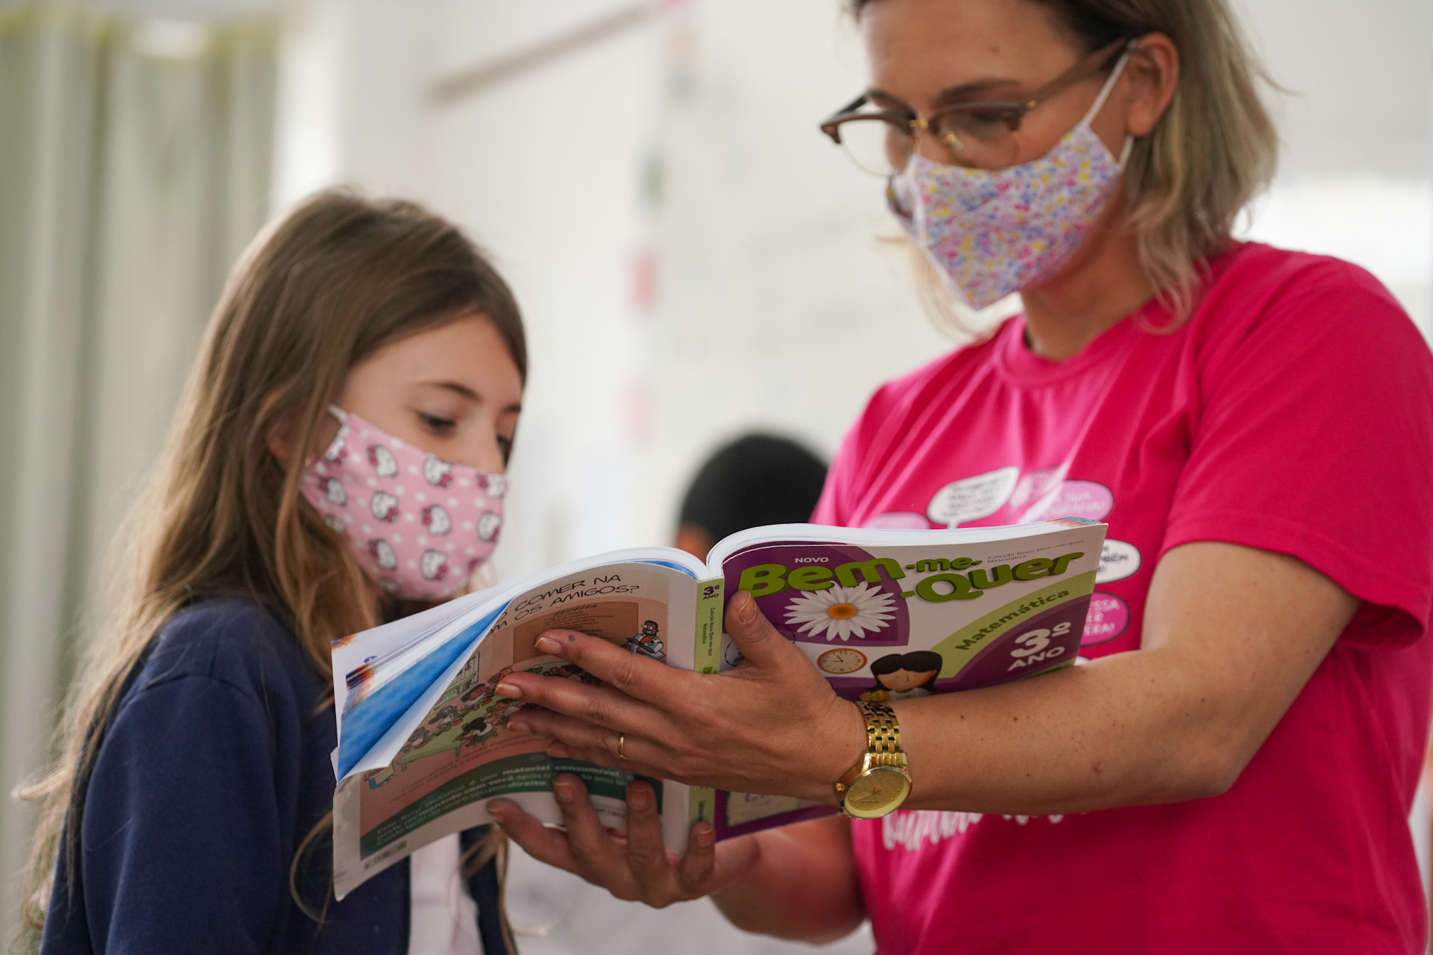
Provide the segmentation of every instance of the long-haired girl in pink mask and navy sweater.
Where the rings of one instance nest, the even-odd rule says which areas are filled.
[[[43,952],[510,951],[487,830],[332,902],[328,647],[492,551],[526,367],[507,285],[418,206],[327,192],[254,243],[27,793]]]

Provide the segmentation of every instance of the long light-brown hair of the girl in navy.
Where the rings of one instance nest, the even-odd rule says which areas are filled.
[[[176,611],[202,596],[248,597],[287,623],[325,683],[332,640],[380,623],[363,570],[301,503],[299,478],[321,452],[327,407],[350,368],[404,335],[473,312],[493,322],[526,381],[512,292],[461,232],[426,209],[321,192],[251,243],[209,319],[158,467],[116,538],[118,607],[67,697],[57,759],[17,793],[42,800],[21,932],[33,936],[44,925],[60,852],[75,872],[106,726]],[[291,467],[269,452],[271,435],[287,441]],[[404,610],[390,604],[378,616]],[[297,892],[295,901],[304,905]]]

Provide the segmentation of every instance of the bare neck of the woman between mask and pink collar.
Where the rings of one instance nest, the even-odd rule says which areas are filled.
[[[1072,358],[1154,295],[1123,205],[1122,195],[1113,198],[1069,268],[1020,291],[1026,344],[1036,355]]]

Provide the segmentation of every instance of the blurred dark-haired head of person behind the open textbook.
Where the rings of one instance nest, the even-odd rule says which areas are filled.
[[[795,441],[770,434],[737,438],[692,478],[675,544],[706,560],[706,551],[728,534],[805,521],[824,484],[825,461]]]

